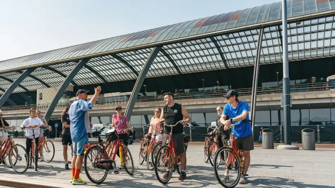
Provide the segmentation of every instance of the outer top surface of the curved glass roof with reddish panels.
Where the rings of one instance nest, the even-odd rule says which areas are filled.
[[[288,0],[287,16],[301,16],[315,12],[334,10],[334,0]],[[334,11],[335,13],[335,11]],[[54,61],[66,61],[85,55],[108,52],[130,46],[147,44],[171,38],[185,37],[225,28],[239,27],[281,18],[281,2],[266,4],[227,14],[215,15],[198,20],[163,26],[122,36],[87,42],[44,53],[0,61],[0,72],[24,68]],[[303,18],[302,18],[303,19]]]

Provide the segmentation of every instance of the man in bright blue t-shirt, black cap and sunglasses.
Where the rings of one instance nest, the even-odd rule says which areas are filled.
[[[247,171],[250,164],[250,151],[254,150],[254,142],[252,137],[252,129],[249,120],[249,105],[244,101],[239,101],[239,93],[235,90],[230,90],[226,95],[223,95],[226,98],[228,104],[223,108],[222,116],[220,121],[224,124],[224,130],[229,128],[230,123],[235,124],[236,121],[239,121],[235,125],[235,137],[236,145],[238,148],[243,149],[244,153],[244,168],[243,176],[240,179],[240,183],[246,184]],[[225,120],[226,116],[229,116],[230,119]],[[228,171],[224,174],[225,177],[228,177]]]

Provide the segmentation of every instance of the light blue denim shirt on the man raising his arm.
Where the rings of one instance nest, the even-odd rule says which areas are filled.
[[[79,140],[87,136],[85,127],[85,112],[91,109],[93,104],[91,101],[77,100],[71,104],[69,108],[70,118],[70,132],[72,142],[79,142]]]

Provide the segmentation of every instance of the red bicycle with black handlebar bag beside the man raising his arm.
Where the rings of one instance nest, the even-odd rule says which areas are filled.
[[[109,130],[105,132],[106,140],[104,145],[103,140],[100,137],[100,134],[106,128],[109,128]],[[123,140],[119,139],[115,127],[106,124],[100,130],[94,130],[92,132],[92,137],[98,137],[98,143],[87,144],[84,146],[85,173],[87,178],[91,182],[95,184],[100,184],[104,182],[109,170],[113,170],[113,173],[118,174],[118,171],[115,171],[116,168],[115,157],[118,150],[121,165],[125,167],[125,170],[129,175],[132,175],[134,173],[133,157],[130,153],[129,148],[123,144]],[[90,167],[92,167],[93,169],[100,169],[98,170],[98,172],[101,172],[102,170],[102,177],[99,179],[95,179],[95,177],[93,176],[96,175],[97,173],[88,172]]]

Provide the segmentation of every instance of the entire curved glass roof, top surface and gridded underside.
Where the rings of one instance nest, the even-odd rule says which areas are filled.
[[[263,29],[260,64],[282,62],[281,2],[148,29],[0,61],[0,94],[36,68],[13,92],[59,87],[80,60],[71,86],[136,80],[160,46],[146,78],[253,66]],[[290,62],[335,56],[335,0],[288,0]]]

